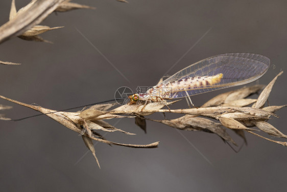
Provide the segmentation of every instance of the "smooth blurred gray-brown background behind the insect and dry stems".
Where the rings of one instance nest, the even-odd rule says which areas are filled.
[[[29,1],[16,1],[17,9]],[[271,59],[259,82],[267,84],[286,71],[286,1],[112,0],[75,1],[97,7],[53,13],[41,25],[65,26],[41,36],[54,44],[12,38],[0,45],[0,60],[22,63],[0,66],[1,95],[61,110],[112,99],[117,88],[154,86],[201,59],[230,52],[248,52]],[[0,24],[7,22],[11,1],[0,3]],[[78,30],[77,30],[78,29]],[[95,50],[97,47],[110,63]],[[269,102],[287,103],[284,73]],[[231,89],[229,89],[231,90]],[[217,91],[192,97],[201,105]],[[10,118],[37,112],[12,105]],[[183,100],[172,108],[184,108]],[[2,112],[1,112],[2,113]],[[287,134],[286,109],[269,121]],[[154,115],[153,118],[162,118]],[[168,115],[168,118],[176,118]],[[218,136],[181,132],[147,122],[147,134],[133,119],[109,121],[135,136],[109,133],[107,139],[134,144],[160,141],[158,148],[95,146],[102,169],[87,153],[82,138],[46,117],[0,122],[1,191],[285,191],[287,148],[246,134],[248,146],[234,153]],[[229,132],[241,145],[243,140]],[[267,136],[267,135],[265,135]],[[276,139],[276,138],[274,138]]]

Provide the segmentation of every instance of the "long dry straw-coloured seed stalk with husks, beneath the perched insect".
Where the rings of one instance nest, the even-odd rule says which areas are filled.
[[[146,120],[149,120],[168,125],[178,130],[213,133],[218,135],[224,142],[229,142],[234,145],[236,145],[236,143],[226,132],[227,129],[233,130],[238,136],[244,139],[245,143],[247,143],[247,141],[244,132],[248,132],[260,138],[287,146],[287,142],[272,140],[257,134],[265,132],[272,137],[287,138],[285,134],[281,133],[273,125],[267,122],[272,116],[277,118],[278,116],[274,114],[274,112],[286,105],[264,107],[264,103],[266,103],[277,77],[282,73],[283,72],[280,72],[266,87],[255,85],[229,91],[210,99],[201,108],[193,109],[162,109],[165,105],[171,105],[177,101],[167,102],[166,104],[163,104],[162,102],[153,102],[148,103],[147,105],[129,103],[115,109],[111,109],[114,108],[116,105],[115,103],[107,103],[93,105],[80,112],[72,113],[45,109],[41,106],[22,103],[4,96],[0,97],[39,111],[58,121],[68,129],[81,134],[86,146],[89,148],[100,167],[99,160],[95,156],[92,140],[110,145],[135,148],[154,148],[157,147],[159,143],[154,142],[147,145],[138,145],[116,143],[107,140],[99,132],[122,132],[127,135],[134,135],[133,133],[118,129],[105,121],[114,118],[135,118],[135,124],[145,132],[147,129]],[[264,87],[265,89],[260,93],[257,99],[246,98],[251,94],[258,93],[259,90]],[[253,105],[251,107],[248,106],[252,103]],[[177,113],[183,114],[183,116],[176,119],[152,119],[147,117],[153,113]],[[214,120],[217,120],[217,122],[214,122]]]

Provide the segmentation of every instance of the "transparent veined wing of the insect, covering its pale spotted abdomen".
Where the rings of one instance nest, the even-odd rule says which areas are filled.
[[[165,79],[154,89],[164,88],[161,96],[165,99],[197,95],[255,81],[266,73],[269,65],[270,59],[262,55],[226,53],[194,63]],[[201,77],[213,80],[202,83]],[[191,81],[187,79],[199,80],[200,83],[190,85],[188,82]]]

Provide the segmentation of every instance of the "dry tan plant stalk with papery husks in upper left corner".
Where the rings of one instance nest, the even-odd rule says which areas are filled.
[[[128,3],[125,0],[117,1]],[[0,27],[0,44],[15,36],[25,40],[51,43],[51,41],[39,37],[39,31],[36,30],[36,28],[42,27],[45,28],[46,31],[49,31],[62,27],[49,28],[47,26],[37,25],[52,12],[67,12],[75,9],[95,9],[95,7],[77,4],[70,0],[32,0],[27,6],[17,12],[15,0],[12,0],[9,22]]]

